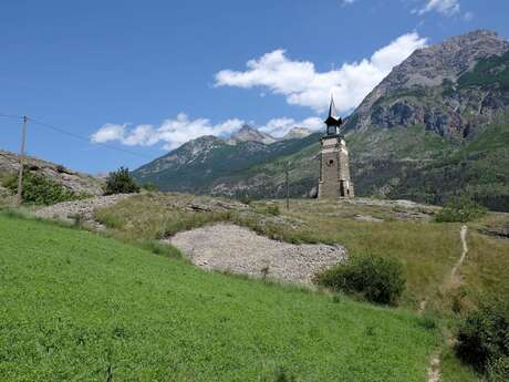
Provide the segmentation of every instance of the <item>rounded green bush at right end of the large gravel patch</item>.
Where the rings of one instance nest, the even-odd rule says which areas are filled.
[[[399,260],[376,256],[354,257],[321,272],[318,283],[335,291],[360,295],[364,299],[386,304],[396,304],[405,290],[403,265]]]

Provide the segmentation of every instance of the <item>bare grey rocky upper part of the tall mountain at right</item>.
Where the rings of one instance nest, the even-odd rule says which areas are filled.
[[[463,138],[509,105],[507,86],[492,81],[466,83],[468,73],[490,58],[505,58],[509,42],[475,31],[415,51],[394,68],[349,118],[349,130],[424,125],[443,136]],[[498,70],[507,70],[509,56]],[[496,72],[496,70],[495,70]]]

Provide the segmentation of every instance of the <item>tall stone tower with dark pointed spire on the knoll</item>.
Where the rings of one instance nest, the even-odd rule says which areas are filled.
[[[353,183],[350,179],[349,149],[340,127],[334,100],[331,97],[329,116],[325,120],[326,134],[320,138],[320,182],[319,199],[353,197]]]

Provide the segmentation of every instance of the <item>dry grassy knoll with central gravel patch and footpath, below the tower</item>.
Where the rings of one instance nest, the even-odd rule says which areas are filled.
[[[313,256],[309,252],[302,268],[303,252],[295,248],[300,245],[314,250],[318,246],[337,246],[340,257],[344,248],[349,258],[364,254],[397,258],[407,280],[399,304],[424,314],[424,322],[438,319],[439,327],[454,333],[455,322],[476,307],[479,299],[505,299],[509,293],[509,241],[502,238],[507,235],[509,214],[490,213],[463,226],[434,221],[437,210],[407,200],[355,198],[335,204],[293,199],[288,211],[283,200],[246,205],[208,196],[149,193],[98,208],[94,217],[108,237],[158,254],[167,254],[166,246],[172,242],[196,267],[270,280],[307,282],[302,271],[312,271],[316,259],[311,260]],[[48,216],[53,215],[54,209]],[[231,225],[237,228],[225,230],[233,228]],[[251,238],[246,237],[246,228]],[[261,236],[253,240],[253,233]],[[293,254],[300,254],[290,264],[284,260],[290,255],[289,247]],[[253,256],[261,256],[261,261],[253,262]],[[320,262],[326,261],[324,254]],[[183,282],[180,278],[176,281]],[[250,282],[258,288],[257,281]],[[437,349],[443,350],[440,381],[477,381],[468,368],[459,364],[445,338]]]

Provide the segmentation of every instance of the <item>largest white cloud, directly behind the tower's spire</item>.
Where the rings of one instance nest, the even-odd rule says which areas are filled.
[[[216,85],[263,86],[284,95],[289,104],[309,106],[316,112],[326,109],[332,92],[336,107],[344,113],[357,106],[395,65],[425,45],[426,39],[416,32],[407,33],[376,51],[371,59],[344,63],[329,72],[316,72],[309,61],[292,61],[279,49],[248,61],[246,71],[218,72]]]

